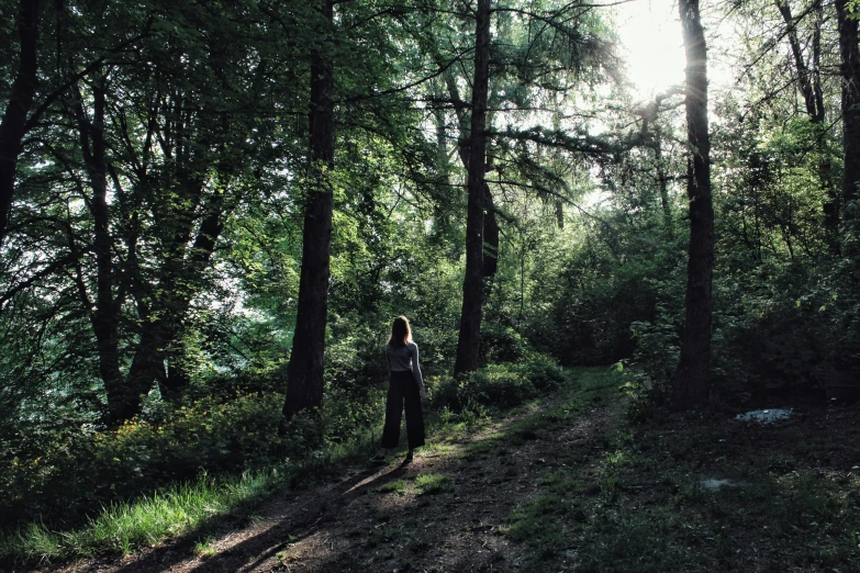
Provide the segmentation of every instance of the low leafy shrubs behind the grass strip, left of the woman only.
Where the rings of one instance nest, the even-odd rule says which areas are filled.
[[[201,473],[238,475],[302,461],[379,423],[383,392],[362,401],[330,387],[317,413],[300,413],[279,437],[283,394],[203,397],[187,406],[148,400],[144,414],[115,429],[85,425],[38,450],[10,452],[0,474],[0,529],[22,521],[75,523],[105,504],[133,499]],[[12,453],[10,456],[10,453]]]

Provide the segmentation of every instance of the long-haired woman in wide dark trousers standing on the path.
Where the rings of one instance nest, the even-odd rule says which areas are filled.
[[[409,452],[403,463],[412,462],[412,452],[424,446],[424,416],[421,400],[427,397],[424,379],[418,366],[418,345],[412,341],[412,330],[405,316],[398,316],[391,324],[391,337],[386,345],[386,359],[390,383],[386,401],[386,427],[382,430],[382,449],[372,463],[386,463],[386,456],[400,441],[400,415],[406,409],[406,439]]]

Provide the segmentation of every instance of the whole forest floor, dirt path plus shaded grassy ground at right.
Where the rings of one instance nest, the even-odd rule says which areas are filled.
[[[618,381],[343,468],[250,515],[53,573],[860,571],[860,408],[629,425]]]

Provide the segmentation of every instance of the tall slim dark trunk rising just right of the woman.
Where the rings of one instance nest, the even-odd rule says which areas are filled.
[[[466,278],[454,373],[478,370],[483,302],[484,170],[487,101],[490,87],[490,0],[478,0],[474,30],[474,81],[469,143],[469,205],[466,218]]]

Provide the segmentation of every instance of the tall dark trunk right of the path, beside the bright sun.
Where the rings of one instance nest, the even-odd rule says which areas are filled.
[[[674,380],[675,409],[703,406],[711,378],[711,308],[714,267],[714,207],[711,200],[711,142],[707,130],[707,49],[699,0],[679,0],[686,54],[686,132],[692,158],[686,192],[690,198],[690,259],[681,359]]]

